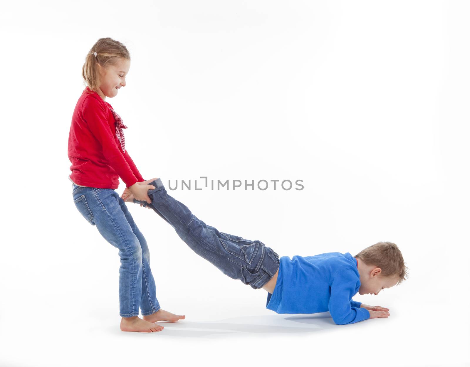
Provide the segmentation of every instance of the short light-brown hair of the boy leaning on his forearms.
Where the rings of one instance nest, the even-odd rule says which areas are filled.
[[[393,242],[377,242],[360,251],[355,258],[360,258],[367,265],[377,266],[382,269],[382,276],[398,276],[400,285],[408,277],[407,266],[401,256],[401,251]]]

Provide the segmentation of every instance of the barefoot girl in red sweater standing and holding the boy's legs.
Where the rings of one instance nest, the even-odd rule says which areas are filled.
[[[147,191],[155,188],[144,181],[125,150],[121,117],[106,97],[118,95],[126,85],[130,55],[127,48],[111,38],[101,38],[85,59],[82,76],[87,84],[73,111],[69,133],[69,180],[75,206],[98,228],[104,239],[119,249],[119,315],[122,331],[160,331],[157,321],[177,321],[160,308],[155,281],[149,265],[149,247],[134,223],[126,204],[116,193],[118,178],[132,195],[150,203]],[[138,317],[139,307],[143,320]]]

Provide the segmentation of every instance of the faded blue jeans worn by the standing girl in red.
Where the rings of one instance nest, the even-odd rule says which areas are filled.
[[[73,202],[104,239],[119,249],[119,315],[150,315],[160,309],[150,271],[149,247],[124,200],[110,188],[72,184]]]

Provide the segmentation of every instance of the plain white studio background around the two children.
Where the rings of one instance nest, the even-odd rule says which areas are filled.
[[[2,366],[469,366],[469,3],[23,1],[0,12]],[[153,211],[128,203],[162,308],[119,330],[118,250],[75,208],[67,142],[101,37],[125,44],[107,98],[144,179],[304,180],[178,190],[281,256],[395,242],[410,277],[354,300],[390,317],[280,315]],[[121,182],[118,193],[125,185]]]

